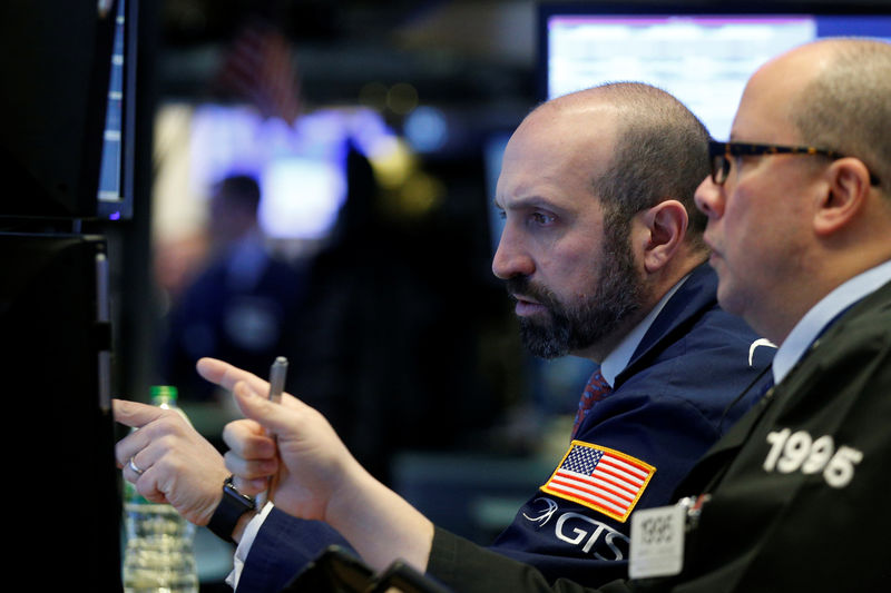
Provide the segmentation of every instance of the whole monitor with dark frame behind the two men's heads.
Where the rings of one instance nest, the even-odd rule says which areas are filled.
[[[541,4],[540,98],[603,82],[649,82],[683,101],[715,138],[726,139],[745,82],[774,56],[820,37],[891,41],[890,14],[852,4],[835,12],[794,7]]]

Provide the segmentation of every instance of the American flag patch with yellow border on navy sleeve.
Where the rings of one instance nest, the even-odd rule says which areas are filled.
[[[624,523],[655,472],[630,455],[572,441],[541,490]]]

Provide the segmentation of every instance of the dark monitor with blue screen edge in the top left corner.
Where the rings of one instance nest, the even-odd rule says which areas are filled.
[[[0,217],[129,214],[137,1],[0,3]]]

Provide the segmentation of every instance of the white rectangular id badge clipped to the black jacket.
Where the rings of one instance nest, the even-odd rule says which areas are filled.
[[[683,505],[642,508],[631,514],[628,575],[631,579],[672,576],[684,567]]]

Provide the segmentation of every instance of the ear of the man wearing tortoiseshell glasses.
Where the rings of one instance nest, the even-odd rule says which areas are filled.
[[[842,158],[825,172],[825,194],[814,215],[814,231],[831,235],[846,226],[866,205],[870,192],[870,171],[863,161]]]

